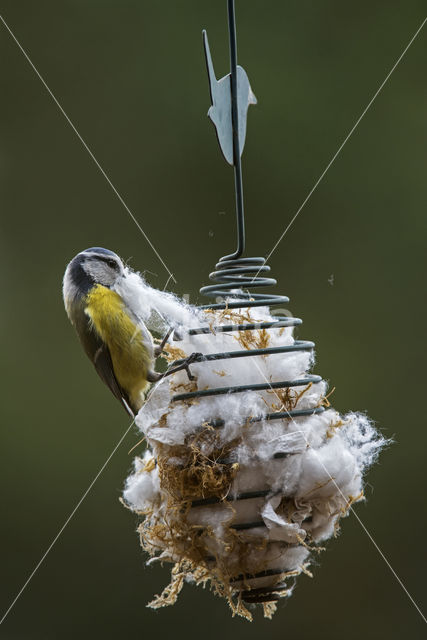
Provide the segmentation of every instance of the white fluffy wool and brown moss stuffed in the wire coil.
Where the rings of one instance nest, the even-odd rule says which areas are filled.
[[[145,322],[180,327],[182,339],[168,347],[170,361],[193,352],[294,344],[291,327],[218,329],[274,320],[266,307],[200,312],[131,272],[121,287]],[[201,326],[209,332],[188,334]],[[300,573],[311,576],[313,554],[363,499],[363,473],[384,440],[365,415],[339,415],[325,382],[173,399],[196,390],[301,380],[312,365],[309,351],[203,361],[191,365],[194,381],[179,372],[152,389],[136,418],[147,449],[135,458],[123,493],[141,517],[148,563],[172,563],[171,582],[150,607],[174,604],[184,583],[193,582],[209,584],[233,615],[250,620],[252,603],[259,602],[271,617],[275,601],[291,595]],[[320,406],[322,413],[265,419]]]

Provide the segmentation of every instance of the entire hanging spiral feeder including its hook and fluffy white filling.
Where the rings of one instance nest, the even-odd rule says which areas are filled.
[[[364,473],[386,441],[365,414],[330,407],[326,383],[308,373],[314,343],[292,335],[301,320],[280,309],[286,296],[257,292],[276,284],[266,260],[243,256],[241,154],[256,98],[237,65],[233,0],[227,5],[231,72],[220,80],[206,32],[203,41],[208,115],[234,167],[237,249],[201,288],[213,302],[200,313],[130,274],[129,295],[151,296],[144,304],[169,327],[167,338],[174,331],[180,343],[166,345],[168,371],[186,369],[189,381],[179,373],[152,387],[136,416],[148,447],[134,459],[123,498],[142,516],[148,564],[173,565],[169,584],[147,606],[173,605],[189,581],[209,584],[232,615],[252,620],[247,604],[261,603],[271,618],[276,601],[292,594],[294,578],[312,575],[311,552],[323,550],[318,543],[336,535],[340,519],[363,500]],[[217,376],[234,384],[218,386]]]

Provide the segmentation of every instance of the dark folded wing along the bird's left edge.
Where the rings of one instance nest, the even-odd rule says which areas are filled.
[[[125,411],[134,418],[134,412],[127,393],[117,382],[114,373],[110,350],[101,337],[94,330],[90,318],[85,313],[83,304],[74,307],[71,321],[75,326],[83,348],[93,363],[101,380],[107,385],[111,393],[117,398]]]

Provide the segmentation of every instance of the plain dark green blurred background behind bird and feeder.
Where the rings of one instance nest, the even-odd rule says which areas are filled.
[[[225,0],[2,0],[1,14],[197,302],[234,248],[232,170],[206,119],[201,29],[228,71]],[[422,0],[237,0],[239,61],[259,104],[243,157],[248,255],[272,248],[425,16]],[[427,27],[272,256],[299,336],[335,407],[395,444],[357,513],[425,605]],[[67,262],[102,245],[167,273],[0,25],[2,612],[129,421],[86,360],[61,299]],[[221,213],[225,212],[225,213]],[[329,279],[333,274],[334,283]],[[172,283],[171,283],[172,284]],[[423,344],[424,343],[424,344]],[[133,430],[0,629],[1,637],[424,637],[424,623],[350,515],[272,622],[232,619],[208,591],[145,607],[168,569],[144,568],[119,503]]]

